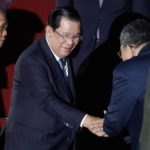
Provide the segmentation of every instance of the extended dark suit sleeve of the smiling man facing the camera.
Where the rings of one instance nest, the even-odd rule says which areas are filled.
[[[37,61],[26,59],[21,63],[20,70],[20,81],[35,104],[64,125],[78,130],[85,113],[65,103],[58,96],[52,86],[55,81],[49,79],[51,75],[48,68]]]

